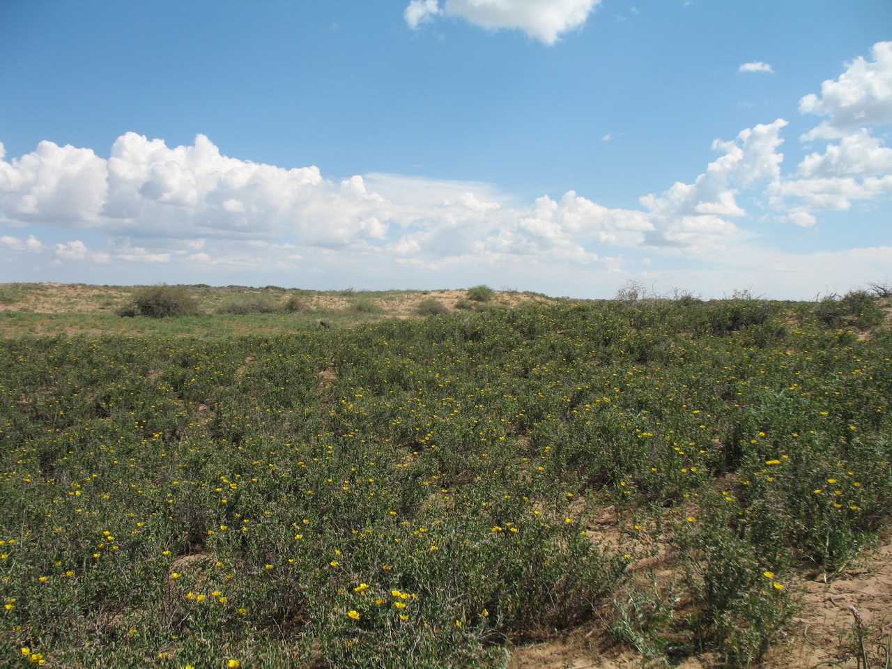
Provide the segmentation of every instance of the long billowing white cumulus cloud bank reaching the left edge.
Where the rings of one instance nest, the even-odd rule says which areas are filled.
[[[315,167],[283,169],[193,146],[120,136],[105,161],[90,149],[41,142],[0,161],[0,217],[92,227],[120,237],[262,239],[296,235],[342,246],[383,239],[391,204],[357,176],[340,184]]]

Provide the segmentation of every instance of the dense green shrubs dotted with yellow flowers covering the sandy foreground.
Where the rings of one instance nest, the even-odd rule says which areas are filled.
[[[0,657],[495,667],[613,602],[648,658],[752,665],[892,508],[892,335],[763,306],[6,339]]]

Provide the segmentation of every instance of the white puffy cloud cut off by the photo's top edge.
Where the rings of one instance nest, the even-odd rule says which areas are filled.
[[[601,0],[412,0],[403,16],[416,29],[435,16],[455,16],[485,29],[517,29],[547,45],[582,26]]]

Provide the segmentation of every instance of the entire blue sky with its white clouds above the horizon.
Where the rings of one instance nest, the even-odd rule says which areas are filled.
[[[6,0],[0,281],[892,278],[886,0]]]

